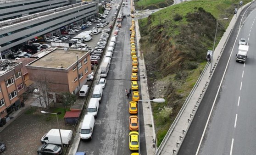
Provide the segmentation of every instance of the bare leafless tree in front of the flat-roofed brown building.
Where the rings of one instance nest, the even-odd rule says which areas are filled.
[[[38,100],[42,108],[49,110],[49,105],[52,101],[52,98],[50,98],[50,92],[52,92],[50,87],[51,79],[42,72],[40,75],[35,77],[33,81],[35,88],[37,89],[34,98]]]

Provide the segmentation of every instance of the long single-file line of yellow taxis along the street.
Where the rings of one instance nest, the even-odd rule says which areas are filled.
[[[138,101],[139,101],[139,85],[138,80],[138,58],[136,56],[136,44],[135,44],[135,21],[132,19],[131,31],[131,57],[132,57],[132,74],[131,74],[131,89],[132,89],[132,101],[129,102],[129,113],[132,114],[129,117],[129,149],[132,151],[139,150],[139,118],[136,116],[138,113]],[[131,155],[139,155],[138,152],[134,152]]]

